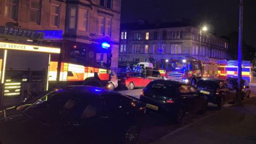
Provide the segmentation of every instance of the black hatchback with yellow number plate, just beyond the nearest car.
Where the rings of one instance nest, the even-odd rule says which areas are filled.
[[[205,113],[206,98],[193,85],[158,79],[142,90],[140,100],[148,109],[167,111],[174,121],[180,123],[183,115],[192,111]]]

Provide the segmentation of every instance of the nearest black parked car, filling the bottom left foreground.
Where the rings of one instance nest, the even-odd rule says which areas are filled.
[[[135,143],[145,109],[117,92],[68,86],[1,110],[0,143]]]

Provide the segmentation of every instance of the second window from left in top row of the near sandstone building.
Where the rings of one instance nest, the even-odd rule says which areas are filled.
[[[40,13],[39,9],[41,9],[41,1],[31,0],[30,3],[30,22],[35,22],[39,24]]]

